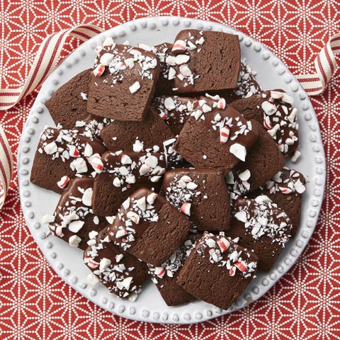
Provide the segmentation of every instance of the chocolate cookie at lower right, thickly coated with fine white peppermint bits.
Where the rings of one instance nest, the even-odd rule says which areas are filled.
[[[290,239],[292,222],[267,196],[237,198],[232,210],[228,237],[238,237],[239,244],[254,249],[259,256],[259,270],[269,271]]]

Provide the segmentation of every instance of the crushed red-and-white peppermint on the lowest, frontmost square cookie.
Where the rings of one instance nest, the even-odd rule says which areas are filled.
[[[195,249],[196,253],[202,257],[209,257],[210,263],[226,268],[229,276],[237,273],[244,278],[254,276],[257,262],[251,258],[251,252],[238,246],[229,237],[225,237],[224,232],[215,235],[205,232],[198,241]]]

